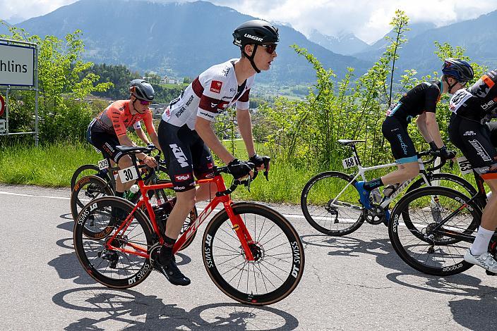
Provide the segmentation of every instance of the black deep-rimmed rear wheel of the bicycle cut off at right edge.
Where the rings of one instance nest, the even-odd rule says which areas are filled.
[[[436,206],[433,206],[432,196],[437,197]],[[478,225],[481,220],[481,209],[477,204],[467,201],[469,201],[467,196],[454,189],[436,186],[421,187],[403,196],[393,208],[388,225],[390,242],[400,258],[412,268],[429,275],[455,275],[471,268],[473,265],[463,258],[471,245],[469,242],[460,240],[444,242],[443,236],[437,237],[436,232],[429,230],[430,226],[436,225],[452,211],[462,207],[444,224],[444,228],[453,232],[457,229],[465,234],[469,234],[469,231],[474,232],[476,227],[471,229],[469,225],[464,224]],[[409,213],[405,213],[407,208],[410,208]],[[464,220],[466,223],[460,225]],[[420,239],[420,235],[424,235],[423,232],[433,237]]]

